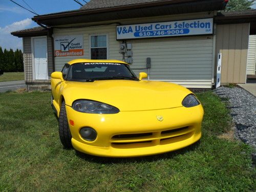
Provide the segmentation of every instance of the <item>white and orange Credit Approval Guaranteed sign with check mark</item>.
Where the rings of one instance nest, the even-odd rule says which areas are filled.
[[[69,35],[54,37],[54,56],[82,56],[83,36]]]

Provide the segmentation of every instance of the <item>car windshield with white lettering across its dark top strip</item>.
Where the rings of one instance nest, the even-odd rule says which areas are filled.
[[[84,62],[70,66],[67,80],[94,81],[105,79],[138,80],[129,66],[111,62]]]

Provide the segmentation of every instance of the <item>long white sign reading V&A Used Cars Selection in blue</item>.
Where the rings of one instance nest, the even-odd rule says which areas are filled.
[[[116,26],[116,39],[212,34],[213,18]]]

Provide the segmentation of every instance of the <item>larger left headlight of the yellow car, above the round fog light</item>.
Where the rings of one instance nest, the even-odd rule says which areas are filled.
[[[76,100],[72,108],[82,113],[114,114],[119,112],[115,106],[92,100]]]

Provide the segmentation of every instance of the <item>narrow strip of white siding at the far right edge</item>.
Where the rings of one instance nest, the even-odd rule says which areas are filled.
[[[255,74],[255,62],[256,62],[256,35],[249,36],[248,55],[247,55],[247,75]]]

